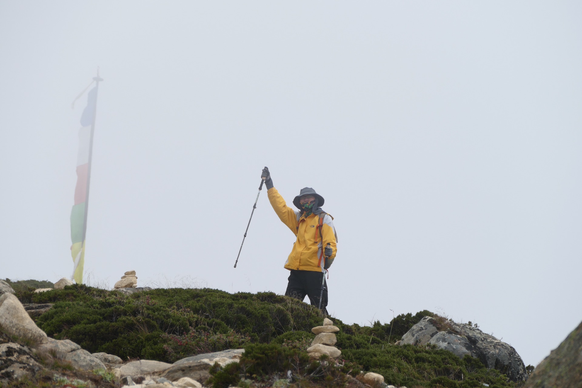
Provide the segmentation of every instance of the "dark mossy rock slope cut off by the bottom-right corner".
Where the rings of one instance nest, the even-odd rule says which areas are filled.
[[[582,322],[531,373],[523,388],[582,387]]]

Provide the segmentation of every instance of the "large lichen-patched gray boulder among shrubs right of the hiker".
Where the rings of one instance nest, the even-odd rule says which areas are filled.
[[[427,343],[459,357],[469,354],[478,358],[487,368],[505,373],[514,382],[527,379],[526,366],[512,346],[465,323],[425,316],[400,341],[400,345],[424,346]]]

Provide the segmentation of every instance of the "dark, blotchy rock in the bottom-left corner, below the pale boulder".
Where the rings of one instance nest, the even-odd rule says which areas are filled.
[[[0,344],[0,381],[34,375],[41,369],[29,347],[12,342]]]

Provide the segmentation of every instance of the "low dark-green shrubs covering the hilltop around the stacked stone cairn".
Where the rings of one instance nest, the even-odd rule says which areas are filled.
[[[54,303],[36,318],[37,325],[49,336],[70,339],[91,353],[173,362],[210,351],[246,348],[240,364],[214,370],[217,387],[236,385],[250,377],[273,382],[282,377],[276,373],[286,370],[292,370],[297,382],[307,386],[314,382],[333,386],[345,373],[356,375],[360,369],[380,373],[386,383],[396,386],[518,386],[478,359],[460,359],[434,347],[395,346],[420,319],[434,316],[426,310],[370,326],[346,325],[332,318],[340,329],[336,347],[343,358],[336,368],[333,363],[313,364],[305,358],[314,337],[311,328],[322,323],[320,311],[274,293],[155,289],[126,296],[75,284],[40,294],[29,289],[19,297]]]

